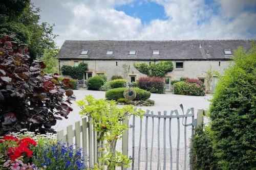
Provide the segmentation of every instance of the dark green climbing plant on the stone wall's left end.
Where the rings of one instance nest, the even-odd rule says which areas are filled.
[[[63,65],[61,71],[63,75],[71,76],[73,79],[82,80],[84,71],[88,69],[88,63],[81,62],[78,66]]]

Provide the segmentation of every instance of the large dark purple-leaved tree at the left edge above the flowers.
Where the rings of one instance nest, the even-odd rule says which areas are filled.
[[[44,62],[29,62],[28,48],[5,37],[0,41],[0,136],[27,128],[54,132],[51,126],[61,116],[68,118],[75,100],[69,79],[46,74]],[[66,94],[66,97],[65,97]]]

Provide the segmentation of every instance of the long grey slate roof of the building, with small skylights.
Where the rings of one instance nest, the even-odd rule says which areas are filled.
[[[199,47],[201,44],[201,48]],[[59,59],[99,59],[99,60],[214,60],[230,59],[224,50],[233,50],[242,46],[248,51],[250,40],[177,40],[177,41],[115,41],[66,40],[60,48]],[[207,55],[207,49],[209,54]],[[88,55],[80,55],[89,50]],[[113,50],[112,56],[106,51]],[[129,51],[136,50],[136,56]],[[159,50],[159,56],[153,56],[153,50]]]

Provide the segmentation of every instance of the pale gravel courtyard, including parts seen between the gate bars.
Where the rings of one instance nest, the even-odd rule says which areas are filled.
[[[76,95],[77,100],[81,100],[84,98],[85,95],[91,94],[96,99],[104,98],[105,92],[104,91],[91,91],[91,90],[74,90],[74,94]],[[211,95],[206,96],[187,96],[187,95],[176,95],[176,94],[151,94],[152,100],[155,101],[154,106],[143,106],[143,107],[137,107],[141,108],[142,110],[146,111],[147,109],[150,111],[154,111],[154,114],[158,114],[158,111],[161,111],[161,114],[163,114],[163,111],[167,111],[167,115],[170,114],[171,110],[178,110],[179,114],[182,114],[182,111],[180,109],[180,104],[183,104],[184,112],[186,113],[188,108],[194,107],[195,114],[197,113],[197,109],[208,109],[209,107],[209,99],[211,99]],[[64,133],[66,133],[66,127],[69,125],[75,125],[75,122],[81,120],[81,115],[78,114],[80,108],[76,105],[76,103],[72,104],[72,108],[74,109],[73,112],[69,114],[68,119],[58,120],[56,126],[54,127],[56,131],[64,130]],[[195,116],[196,118],[196,116]],[[187,153],[184,154],[185,149],[185,136],[184,136],[184,126],[182,125],[183,119],[180,118],[180,147],[179,147],[179,157],[180,162],[179,166],[180,168],[184,168],[184,164],[189,168],[189,161],[186,163],[184,162],[184,156],[187,156],[187,160],[189,160],[189,143],[190,143],[190,137],[191,137],[191,126],[188,126],[186,128],[186,148]],[[191,117],[187,118],[187,124],[191,123]],[[129,125],[132,124],[132,117],[129,120]],[[152,136],[153,136],[153,164],[156,164],[157,162],[157,146],[158,146],[158,119],[154,118],[154,134],[152,134],[152,118],[148,118],[148,133],[147,133],[147,141],[148,141],[148,153],[151,151],[151,144],[152,144]],[[176,166],[176,151],[177,151],[177,139],[178,139],[178,124],[177,124],[177,118],[172,119],[172,130],[171,130],[171,136],[172,136],[172,152],[173,152],[173,166]],[[170,145],[169,145],[169,121],[166,120],[166,161],[168,162],[170,159]],[[139,146],[139,132],[140,132],[140,118],[137,117],[135,121],[135,165],[137,164],[137,157],[138,157],[138,146]],[[163,118],[160,120],[160,159],[163,160]],[[117,142],[117,150],[121,151],[121,140],[118,140]],[[141,168],[143,169],[145,162],[145,118],[142,119],[142,137],[141,137]],[[129,156],[132,155],[132,128],[129,130]],[[148,158],[149,159],[149,158]],[[149,160],[148,160],[149,161]],[[169,163],[168,163],[169,165]],[[161,162],[162,166],[162,162]],[[136,169],[137,167],[135,167]],[[156,167],[153,167],[155,169]],[[167,167],[168,168],[168,167]]]

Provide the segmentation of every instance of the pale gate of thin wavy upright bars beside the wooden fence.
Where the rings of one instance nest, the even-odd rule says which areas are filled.
[[[132,170],[192,169],[194,127],[197,121],[194,119],[194,108],[187,109],[184,114],[182,104],[180,107],[182,114],[178,110],[163,111],[163,114],[147,110],[143,114],[143,121],[140,119],[139,123],[136,123],[135,116],[132,117]]]

